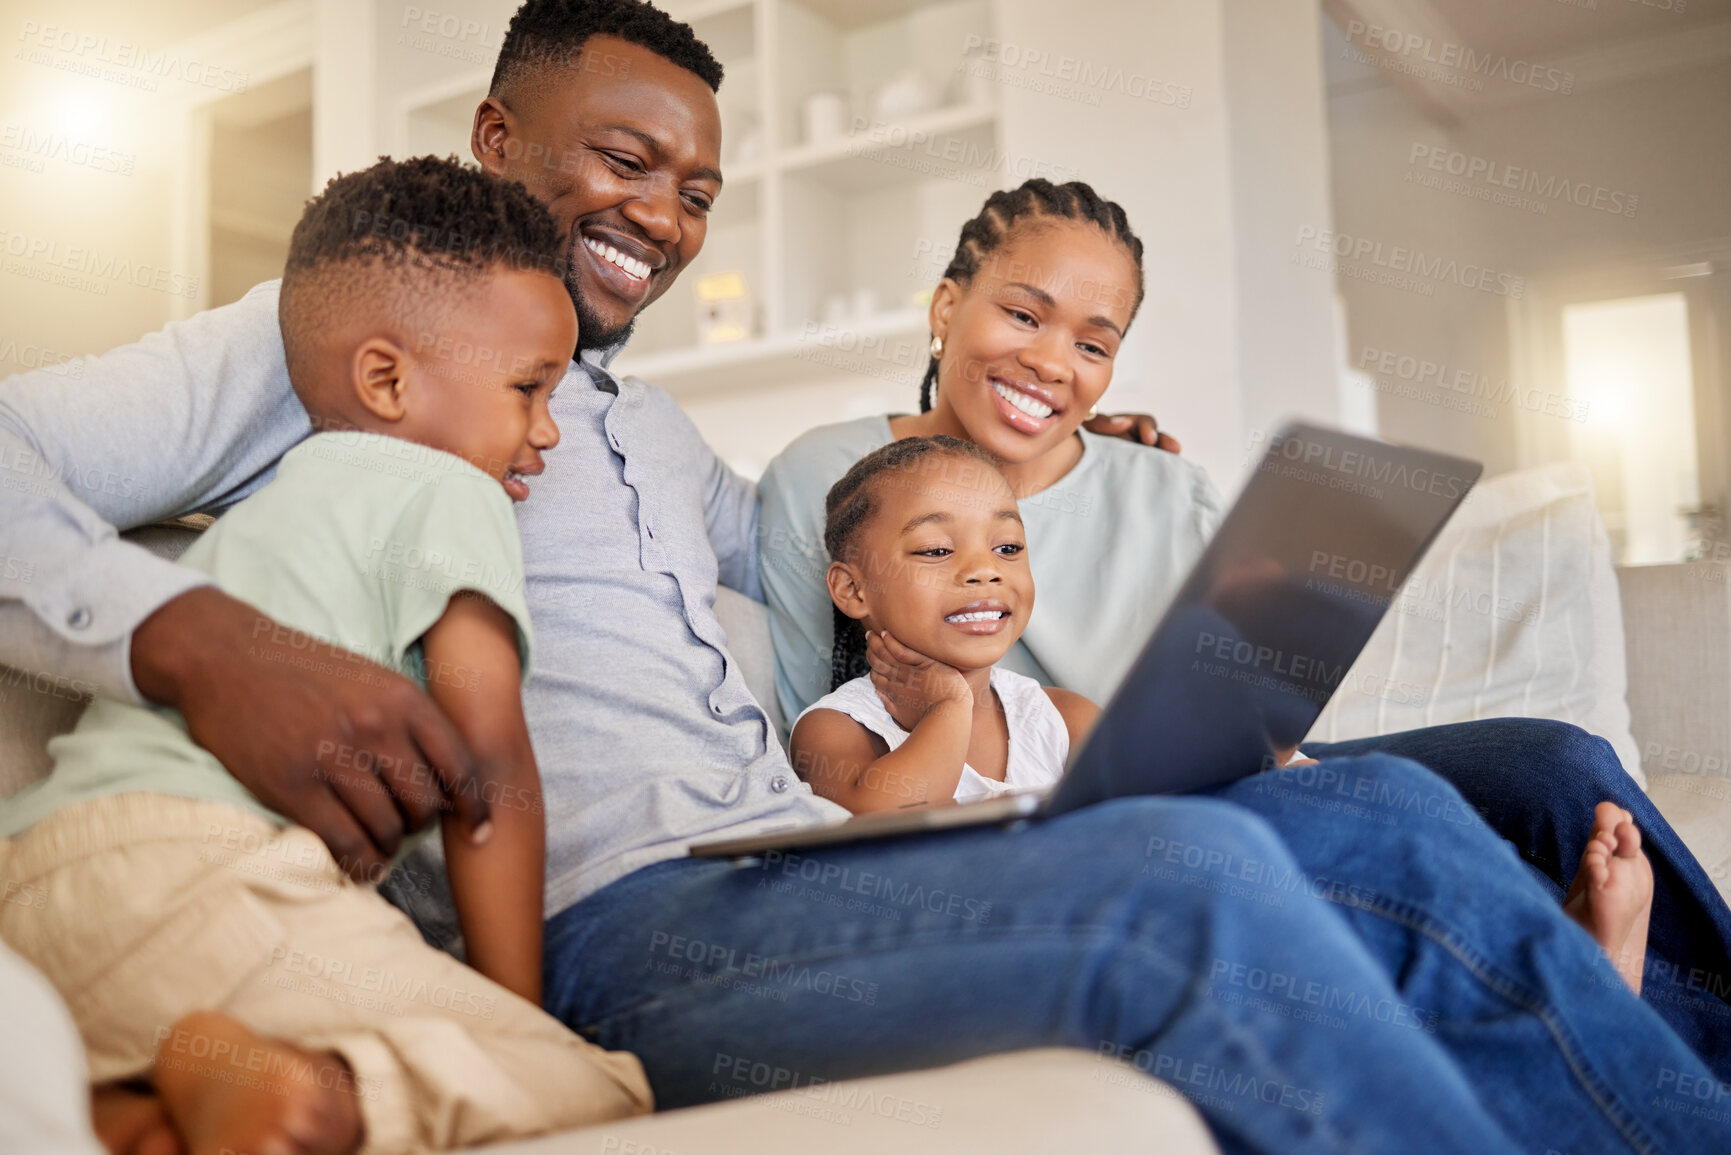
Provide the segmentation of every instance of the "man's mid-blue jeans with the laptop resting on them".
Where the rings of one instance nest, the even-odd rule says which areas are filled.
[[[1324,765],[1367,800],[1276,774],[661,862],[549,921],[547,1008],[661,1107],[1058,1044],[1165,1079],[1231,1152],[1731,1146],[1717,1081],[1447,783]]]

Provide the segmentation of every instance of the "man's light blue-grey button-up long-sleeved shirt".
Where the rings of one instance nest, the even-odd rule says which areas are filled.
[[[0,381],[0,663],[138,700],[132,630],[208,578],[114,526],[222,513],[312,431],[277,287]],[[518,506],[549,914],[705,836],[846,816],[789,769],[715,616],[718,584],[762,599],[755,487],[613,352],[566,372],[561,442]]]

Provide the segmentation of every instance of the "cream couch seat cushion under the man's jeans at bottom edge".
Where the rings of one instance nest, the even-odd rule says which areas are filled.
[[[743,1072],[732,1079],[732,1072]],[[751,1079],[762,1072],[762,1081]],[[727,1091],[770,1086],[769,1065],[729,1063]],[[807,1082],[800,1077],[800,1082]],[[795,1091],[507,1143],[486,1155],[879,1155],[898,1152],[1162,1152],[1215,1155],[1168,1084],[1089,1051],[992,1055],[938,1070],[819,1082]]]

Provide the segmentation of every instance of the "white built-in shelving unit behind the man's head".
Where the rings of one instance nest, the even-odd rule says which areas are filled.
[[[935,253],[1004,180],[997,102],[962,68],[968,36],[992,33],[990,0],[666,7],[727,69],[718,95],[727,182],[703,253],[642,313],[618,367],[706,400],[853,376],[853,357],[869,358],[878,379],[905,371],[916,381],[924,360],[905,350],[924,345],[923,294],[943,265]],[[940,88],[942,102],[895,123],[878,118],[878,95],[909,69]],[[395,151],[467,156],[486,81],[478,69],[407,94]],[[817,92],[846,95],[848,135],[807,140],[805,104]],[[729,270],[753,296],[755,336],[699,345],[696,284]]]

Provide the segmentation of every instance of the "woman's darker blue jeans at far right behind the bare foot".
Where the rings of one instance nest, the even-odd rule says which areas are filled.
[[[1624,771],[1612,745],[1579,726],[1490,719],[1340,743],[1305,743],[1335,758],[1393,753],[1435,771],[1515,845],[1561,899],[1580,864],[1593,807],[1615,802],[1641,829],[1653,864],[1641,999],[1731,1081],[1731,909],[1677,833]]]

